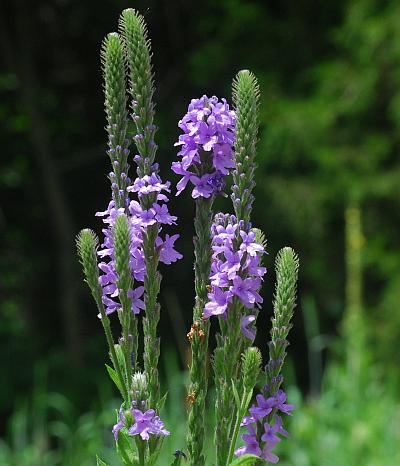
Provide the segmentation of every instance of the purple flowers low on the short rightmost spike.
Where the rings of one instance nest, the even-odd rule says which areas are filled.
[[[268,392],[268,386],[264,387],[263,392],[264,394]],[[235,455],[250,453],[270,463],[277,463],[279,457],[271,450],[281,441],[278,434],[288,436],[282,426],[282,418],[277,412],[291,416],[294,406],[286,403],[286,394],[283,390],[278,390],[275,395],[267,398],[259,394],[256,400],[257,404],[249,409],[250,416],[244,417],[241,423],[242,426],[247,427],[247,434],[242,435],[246,444],[238,448]]]

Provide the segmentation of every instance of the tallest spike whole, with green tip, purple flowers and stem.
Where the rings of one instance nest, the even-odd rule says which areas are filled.
[[[160,340],[157,336],[160,319],[160,305],[157,299],[160,292],[161,274],[158,272],[158,264],[159,261],[170,264],[182,256],[174,250],[174,241],[179,235],[171,237],[166,235],[165,240],[159,236],[161,224],[175,223],[176,217],[169,214],[165,204],[168,199],[165,194],[161,193],[161,191],[169,192],[169,183],[162,183],[158,176],[158,164],[154,163],[157,150],[154,142],[156,127],[153,123],[154,81],[146,23],[138,12],[127,9],[121,14],[119,29],[126,52],[129,92],[132,97],[132,118],[136,127],[134,141],[139,152],[134,157],[138,178],[130,190],[138,193],[140,207],[138,205],[133,207],[135,210],[141,210],[143,252],[146,263],[143,362],[148,381],[149,403],[157,410],[161,404],[158,379]],[[164,202],[164,204],[157,204],[157,201]],[[155,443],[149,447],[151,453],[157,450]]]

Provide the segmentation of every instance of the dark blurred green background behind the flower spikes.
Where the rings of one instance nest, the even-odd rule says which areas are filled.
[[[230,101],[239,69],[258,77],[262,102],[253,220],[265,232],[269,252],[259,346],[265,353],[274,257],[290,245],[301,261],[286,374],[288,384],[299,388],[293,388],[293,396],[299,404],[301,396],[319,399],[324,374],[335,365],[356,376],[363,390],[366,380],[375,380],[398,406],[399,2],[2,0],[4,464],[74,464],[77,457],[66,460],[65,451],[62,459],[54,453],[53,463],[43,459],[44,452],[73,443],[69,434],[63,437],[51,426],[67,423],[68,412],[68,428],[75,432],[79,416],[96,413],[112,397],[104,371],[106,345],[82,283],[74,239],[83,227],[101,233],[94,213],[110,198],[99,49],[127,7],[145,16],[152,39],[163,179],[177,181],[169,167],[176,157],[177,122],[190,99],[215,94]],[[232,210],[225,199],[216,207]],[[180,369],[187,365],[185,334],[193,305],[194,205],[185,192],[171,200],[170,209],[178,216],[177,249],[184,260],[161,267],[161,370],[182,410],[185,375]],[[354,380],[346,383],[345,392],[351,393]],[[329,384],[324,390],[329,392]],[[379,397],[379,391],[373,393],[370,399]],[[307,409],[312,408],[304,413]],[[30,430],[38,410],[39,440]],[[25,427],[18,430],[18,422]],[[366,441],[363,429],[364,424],[355,435]],[[21,440],[21,432],[27,440]],[[42,459],[13,456],[32,445]],[[85,452],[92,453],[83,450],[82,464],[92,464]],[[339,464],[321,463],[313,454],[304,453],[303,462],[297,456],[297,463]],[[398,450],[392,458],[395,454]],[[364,461],[360,455],[342,464]]]

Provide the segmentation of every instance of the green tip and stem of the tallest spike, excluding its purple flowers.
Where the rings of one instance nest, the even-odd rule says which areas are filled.
[[[137,173],[139,177],[151,175],[152,164],[157,150],[154,142],[156,127],[154,119],[154,80],[151,64],[150,40],[147,26],[142,15],[133,9],[124,10],[120,17],[120,32],[123,37],[129,75],[129,93],[132,97],[133,121],[136,128],[135,143],[138,157]],[[140,197],[143,209],[149,209],[156,201],[156,196]],[[160,320],[160,306],[157,296],[160,292],[161,275],[157,271],[159,252],[156,247],[158,225],[148,226],[143,234],[143,251],[146,261],[145,312],[143,319],[144,333],[144,370],[149,389],[149,404],[158,409],[160,386],[158,381],[158,359],[160,342],[157,337],[157,325]]]

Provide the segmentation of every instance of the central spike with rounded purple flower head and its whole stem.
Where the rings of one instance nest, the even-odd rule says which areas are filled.
[[[184,134],[175,144],[182,146],[179,162],[172,164],[172,170],[182,175],[178,183],[179,194],[190,181],[194,185],[192,197],[196,203],[194,227],[195,291],[193,325],[188,333],[192,350],[189,394],[193,395],[188,416],[188,452],[192,466],[205,464],[204,408],[208,389],[206,358],[208,348],[209,322],[202,319],[207,302],[207,285],[211,262],[211,222],[214,197],[224,188],[224,176],[233,167],[232,144],[235,113],[229,109],[225,99],[216,96],[192,99],[188,111],[179,122]]]

